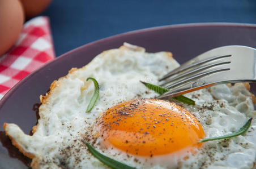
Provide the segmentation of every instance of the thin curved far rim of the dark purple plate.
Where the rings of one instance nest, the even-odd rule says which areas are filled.
[[[130,34],[135,34],[135,33],[143,33],[143,32],[151,32],[151,31],[156,31],[156,30],[164,30],[164,29],[170,29],[170,28],[189,28],[189,27],[203,27],[203,26],[231,26],[231,27],[248,27],[248,28],[256,28],[256,24],[251,24],[251,23],[221,23],[221,22],[216,22],[216,23],[186,23],[186,24],[172,24],[172,25],[163,25],[163,26],[154,26],[150,28],[143,28],[143,29],[136,29],[116,35],[112,35],[110,37],[105,37],[98,39],[96,41],[92,41],[89,43],[86,43],[82,46],[76,47],[70,51],[65,52],[62,55],[59,55],[55,57],[53,60],[49,61],[48,63],[40,66],[40,68],[37,68],[33,72],[29,73],[25,78],[23,78],[21,81],[16,83],[3,97],[0,99],[0,107],[2,107],[7,99],[21,86],[23,83],[27,82],[29,78],[33,77],[36,73],[40,72],[40,70],[44,69],[46,66],[49,66],[50,64],[56,63],[58,60],[62,59],[63,57],[66,57],[73,52],[76,52],[78,50],[81,50],[82,48],[86,48],[92,45],[97,45],[97,43],[101,43],[104,41],[109,41],[112,39],[120,38],[126,35]],[[58,77],[60,78],[60,77]]]

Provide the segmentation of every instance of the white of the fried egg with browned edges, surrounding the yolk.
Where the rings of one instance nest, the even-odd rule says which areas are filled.
[[[155,97],[139,81],[157,84],[157,79],[179,64],[169,52],[150,54],[143,48],[126,44],[96,56],[81,69],[72,69],[66,77],[52,83],[50,92],[41,96],[39,123],[33,136],[25,135],[16,124],[6,124],[13,143],[33,158],[33,168],[106,168],[87,150],[85,141],[99,152],[137,168],[251,168],[255,162],[256,121],[250,132],[227,140],[204,143],[197,153],[140,158],[117,149],[104,149],[95,131],[95,122],[104,111],[120,101]],[[86,108],[94,91],[88,77],[96,78],[100,96],[90,113]],[[256,113],[250,92],[242,83],[214,86],[190,94],[195,106],[178,103],[197,117],[206,137],[229,134]]]

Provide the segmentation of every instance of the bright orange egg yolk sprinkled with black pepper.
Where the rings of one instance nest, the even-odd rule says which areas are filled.
[[[120,103],[106,110],[97,123],[105,146],[148,157],[199,148],[204,137],[193,114],[163,100]]]

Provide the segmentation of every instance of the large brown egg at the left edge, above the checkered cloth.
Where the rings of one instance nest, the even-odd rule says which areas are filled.
[[[0,0],[0,56],[14,45],[23,23],[22,3],[19,0]]]

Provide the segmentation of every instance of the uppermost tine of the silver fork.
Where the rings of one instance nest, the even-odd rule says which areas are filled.
[[[180,66],[179,68],[176,68],[174,70],[172,70],[172,72],[169,72],[168,74],[164,75],[164,77],[160,78],[159,81],[163,81],[164,79],[167,79],[169,77],[172,77],[173,75],[180,73],[180,72],[184,72],[187,69],[191,69],[194,68],[195,66],[198,65],[202,65],[204,63],[207,63],[209,61],[213,61],[213,60],[217,60],[217,59],[221,59],[223,57],[231,57],[232,55],[221,55],[221,56],[214,56],[214,57],[210,57],[208,59],[205,60],[201,60],[201,61],[197,61],[194,62],[194,60],[197,60],[197,57],[195,57],[195,59],[188,61],[187,63],[184,64],[184,66]],[[199,60],[199,59],[198,59]]]

